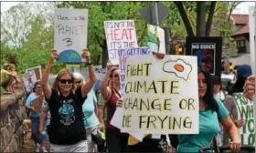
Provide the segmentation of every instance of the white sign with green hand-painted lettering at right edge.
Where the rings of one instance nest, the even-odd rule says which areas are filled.
[[[241,145],[255,145],[255,131],[253,119],[253,103],[244,97],[243,93],[234,93],[233,95],[236,107],[238,108],[239,118],[244,118],[244,126],[240,129]]]

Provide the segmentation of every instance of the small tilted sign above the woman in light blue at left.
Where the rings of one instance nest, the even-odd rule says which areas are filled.
[[[23,81],[27,92],[33,90],[34,84],[37,82],[36,73],[34,70],[29,70],[23,75]]]

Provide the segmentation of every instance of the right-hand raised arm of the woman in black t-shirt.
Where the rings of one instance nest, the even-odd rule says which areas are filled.
[[[84,85],[81,87],[81,95],[82,97],[86,97],[87,94],[91,91],[91,88],[94,86],[96,81],[95,68],[91,64],[91,54],[87,49],[83,49],[83,53],[81,55],[88,62],[89,69],[89,80],[86,81]]]

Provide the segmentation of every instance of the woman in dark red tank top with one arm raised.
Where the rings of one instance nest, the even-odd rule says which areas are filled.
[[[127,152],[128,151],[128,135],[122,134],[120,129],[111,125],[111,120],[121,100],[120,87],[120,71],[118,67],[112,67],[112,62],[109,60],[106,66],[105,75],[102,77],[100,91],[105,99],[107,108],[106,130],[106,148],[108,152]],[[111,87],[108,86],[110,78]]]

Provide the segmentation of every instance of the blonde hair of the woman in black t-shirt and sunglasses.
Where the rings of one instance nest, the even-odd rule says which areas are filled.
[[[59,78],[61,76],[67,75],[67,74],[69,74],[69,76],[71,76],[71,80],[72,80],[72,89],[71,90],[75,90],[75,88],[76,88],[75,83],[74,83],[75,79],[74,79],[72,72],[68,68],[63,68],[59,71],[56,79],[53,82],[52,88],[59,91],[59,86],[58,86]]]

